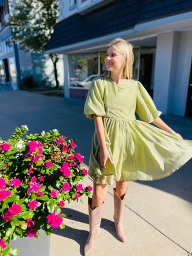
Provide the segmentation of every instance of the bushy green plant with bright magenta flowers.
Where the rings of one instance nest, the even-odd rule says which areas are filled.
[[[61,207],[90,196],[83,188],[88,174],[83,156],[74,152],[76,141],[65,140],[57,130],[26,135],[23,125],[6,143],[0,143],[0,255],[17,255],[8,242],[17,237],[47,235],[65,228]],[[21,139],[22,138],[22,139]]]

